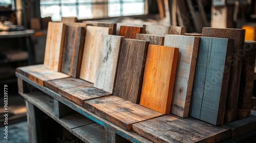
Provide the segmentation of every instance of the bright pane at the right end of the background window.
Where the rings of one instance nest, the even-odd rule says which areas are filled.
[[[144,14],[144,3],[123,4],[123,15]]]

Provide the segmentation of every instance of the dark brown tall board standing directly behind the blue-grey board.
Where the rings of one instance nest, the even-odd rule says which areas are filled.
[[[203,28],[202,36],[234,39],[233,54],[232,58],[230,57],[229,59],[231,62],[231,68],[224,117],[224,122],[229,123],[236,120],[237,117],[239,86],[242,69],[242,57],[240,51],[244,46],[245,30]]]

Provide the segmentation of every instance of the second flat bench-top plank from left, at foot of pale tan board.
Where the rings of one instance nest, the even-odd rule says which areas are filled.
[[[72,87],[78,87],[82,85],[90,85],[93,86],[92,83],[75,78],[64,78],[64,79],[57,79],[45,82],[45,86],[52,89],[55,92],[58,92],[62,89],[68,89]]]

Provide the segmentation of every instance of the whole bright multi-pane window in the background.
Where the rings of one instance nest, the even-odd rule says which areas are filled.
[[[40,0],[41,17],[78,19],[144,14],[145,0]]]

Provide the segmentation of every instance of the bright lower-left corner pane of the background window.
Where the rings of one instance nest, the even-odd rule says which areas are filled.
[[[59,15],[59,6],[40,6],[41,10],[41,17],[52,17],[52,21],[59,21],[60,15]]]

